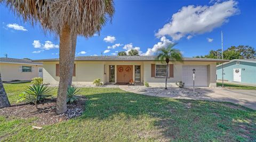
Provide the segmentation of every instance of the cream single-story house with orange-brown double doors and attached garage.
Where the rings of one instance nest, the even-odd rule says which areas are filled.
[[[43,63],[44,83],[59,83],[59,59],[35,60]],[[216,86],[216,64],[228,60],[184,58],[171,61],[168,85],[177,81],[193,86],[193,71],[196,69],[196,86]],[[81,56],[75,58],[73,84],[92,84],[100,78],[103,83],[148,82],[150,86],[165,83],[166,64],[156,61],[156,56]]]

